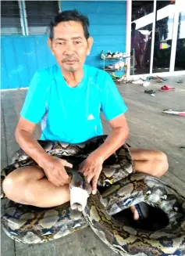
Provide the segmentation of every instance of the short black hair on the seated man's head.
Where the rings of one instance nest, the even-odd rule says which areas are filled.
[[[84,36],[85,38],[89,38],[89,19],[87,16],[84,16],[83,14],[79,13],[76,9],[74,10],[68,10],[68,11],[63,11],[62,13],[59,13],[55,18],[52,20],[50,23],[50,35],[49,38],[53,38],[53,28],[57,26],[62,21],[78,21],[82,24],[82,27],[84,28]]]

